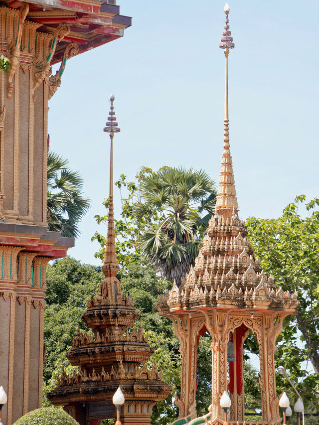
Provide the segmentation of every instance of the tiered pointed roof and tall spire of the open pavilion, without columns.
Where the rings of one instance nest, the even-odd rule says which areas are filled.
[[[226,20],[219,44],[225,53],[224,150],[216,211],[209,221],[194,267],[191,266],[178,288],[174,284],[172,290],[160,300],[158,308],[161,314],[166,314],[169,309],[177,311],[179,308],[184,313],[187,308],[198,305],[198,299],[201,300],[201,305],[207,307],[221,303],[240,308],[258,308],[272,304],[274,309],[281,309],[294,308],[297,303],[296,293],[283,294],[282,289],[276,291],[273,277],[265,276],[247,239],[245,223],[237,214],[228,133],[228,55],[235,45],[229,30],[227,3],[224,12]],[[259,299],[259,296],[265,299]]]

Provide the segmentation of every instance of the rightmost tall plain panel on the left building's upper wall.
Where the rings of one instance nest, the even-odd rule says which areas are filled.
[[[33,218],[35,223],[43,222],[43,119],[44,119],[44,84],[42,83],[35,91],[34,102],[34,167],[33,176]]]

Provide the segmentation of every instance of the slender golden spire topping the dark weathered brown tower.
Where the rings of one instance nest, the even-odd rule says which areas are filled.
[[[114,209],[113,209],[113,138],[114,133],[119,133],[121,129],[118,127],[116,122],[116,117],[113,106],[114,94],[111,94],[111,111],[106,127],[104,131],[110,134],[111,148],[110,148],[110,203],[109,203],[109,219],[108,219],[108,233],[106,238],[105,245],[105,255],[104,263],[102,266],[102,271],[104,275],[107,276],[116,276],[117,272],[120,269],[116,259],[116,248],[115,248],[115,232],[114,232]]]

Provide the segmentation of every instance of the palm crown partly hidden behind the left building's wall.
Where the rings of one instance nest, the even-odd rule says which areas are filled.
[[[67,238],[79,235],[78,223],[90,208],[81,191],[83,178],[68,167],[68,160],[49,152],[47,165],[47,211],[49,230]]]

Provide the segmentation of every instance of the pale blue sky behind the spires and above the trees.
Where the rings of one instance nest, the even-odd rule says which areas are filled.
[[[51,148],[84,178],[92,208],[70,255],[98,244],[95,214],[108,195],[111,92],[121,133],[114,177],[141,165],[203,168],[218,181],[223,140],[224,1],[118,0],[133,17],[123,38],[68,61],[49,102]],[[296,194],[319,195],[319,2],[232,0],[230,146],[240,216],[277,217]],[[115,215],[120,214],[115,190]],[[106,232],[106,227],[101,228]]]

